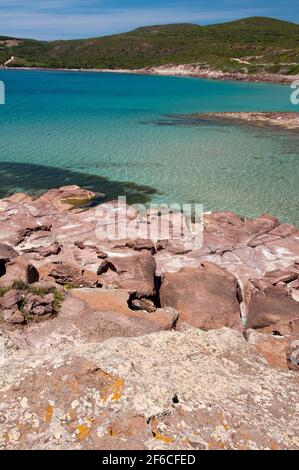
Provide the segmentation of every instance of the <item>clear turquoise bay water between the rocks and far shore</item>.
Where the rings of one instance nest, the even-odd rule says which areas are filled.
[[[76,183],[107,199],[196,202],[299,223],[298,135],[173,119],[296,111],[287,86],[8,70],[0,80],[0,197]]]

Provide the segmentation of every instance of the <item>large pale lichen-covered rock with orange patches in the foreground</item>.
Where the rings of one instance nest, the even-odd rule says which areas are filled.
[[[9,349],[0,372],[2,448],[299,446],[298,374],[229,329]]]

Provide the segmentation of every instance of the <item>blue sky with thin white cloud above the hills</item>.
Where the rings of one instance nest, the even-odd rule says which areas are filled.
[[[272,16],[299,23],[297,3],[298,0],[0,0],[0,35],[83,38],[150,24],[211,24],[246,16]]]

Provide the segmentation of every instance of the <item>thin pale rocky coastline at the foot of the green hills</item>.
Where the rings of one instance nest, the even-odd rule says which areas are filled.
[[[45,71],[62,71],[62,72],[93,72],[93,73],[127,73],[135,75],[153,75],[153,76],[170,76],[185,78],[203,78],[209,80],[220,81],[237,81],[237,82],[255,82],[255,83],[273,83],[281,85],[289,85],[295,80],[299,80],[299,75],[279,75],[269,73],[258,73],[255,75],[244,74],[240,72],[223,72],[220,70],[204,69],[196,65],[163,65],[153,67],[143,67],[140,69],[105,69],[105,68],[51,68],[51,67],[1,67],[0,70],[45,70]]]

